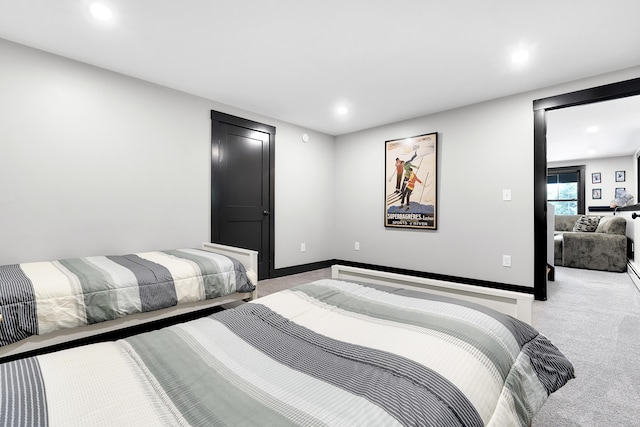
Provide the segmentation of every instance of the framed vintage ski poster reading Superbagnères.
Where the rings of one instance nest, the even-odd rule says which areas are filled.
[[[437,229],[438,134],[385,141],[384,226]]]

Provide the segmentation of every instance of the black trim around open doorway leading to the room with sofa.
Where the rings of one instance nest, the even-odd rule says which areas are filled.
[[[534,296],[547,299],[547,120],[546,112],[640,95],[640,78],[533,101]]]

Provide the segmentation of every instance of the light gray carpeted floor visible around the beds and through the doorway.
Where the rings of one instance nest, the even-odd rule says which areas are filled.
[[[259,283],[259,296],[331,269]],[[533,326],[573,362],[576,379],[552,394],[532,427],[640,426],[640,292],[626,273],[558,267],[548,300],[535,301]]]

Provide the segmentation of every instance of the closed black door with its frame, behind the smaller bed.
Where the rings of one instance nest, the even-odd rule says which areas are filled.
[[[217,111],[211,122],[211,241],[258,251],[258,278],[268,279],[276,129]]]

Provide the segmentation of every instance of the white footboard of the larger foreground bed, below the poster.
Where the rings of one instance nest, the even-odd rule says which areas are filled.
[[[333,265],[331,267],[331,277],[339,280],[353,280],[393,286],[396,288],[413,289],[471,301],[531,324],[533,307],[533,295],[531,294],[407,276],[385,271],[367,270],[358,267],[347,267],[344,265]]]

